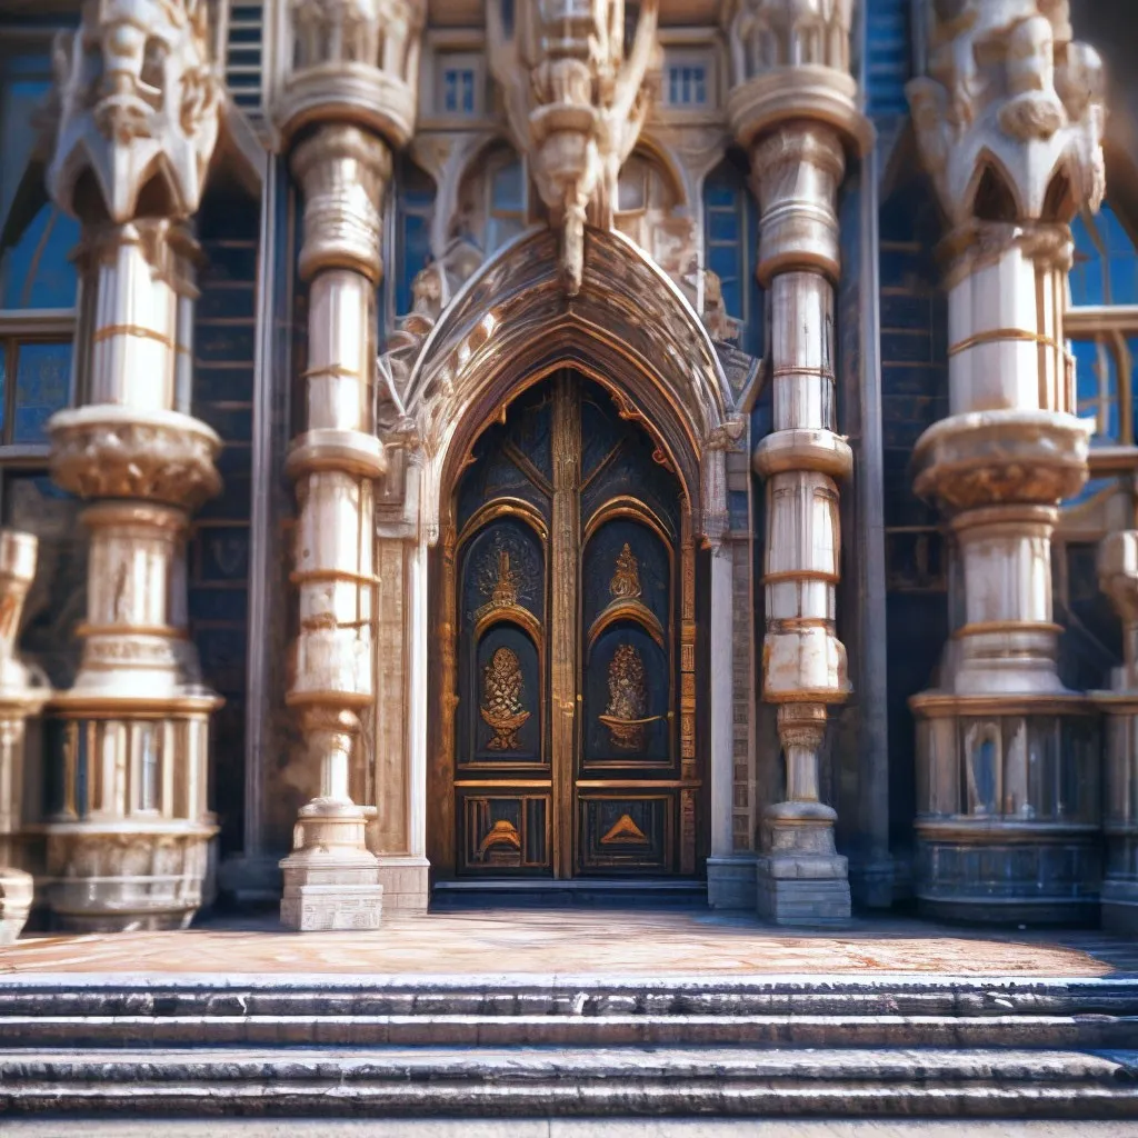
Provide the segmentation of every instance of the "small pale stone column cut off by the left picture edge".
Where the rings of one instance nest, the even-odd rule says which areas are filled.
[[[23,800],[24,724],[51,694],[43,677],[16,655],[24,600],[35,577],[36,539],[0,529],[0,945],[27,921],[34,884],[19,868],[17,836]]]

